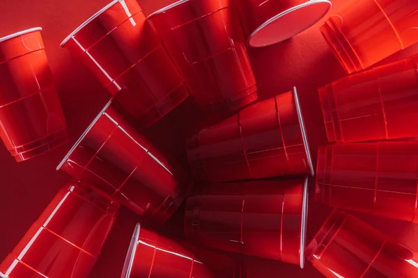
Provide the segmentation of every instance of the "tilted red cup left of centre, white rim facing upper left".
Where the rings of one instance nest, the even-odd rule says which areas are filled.
[[[178,208],[191,181],[112,106],[112,100],[56,170],[98,186],[139,215],[164,222]]]

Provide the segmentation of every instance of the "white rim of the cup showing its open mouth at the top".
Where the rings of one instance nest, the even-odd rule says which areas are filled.
[[[292,8],[289,8],[288,10],[284,10],[283,12],[279,13],[278,15],[274,15],[274,17],[268,19],[267,21],[265,21],[263,24],[261,24],[260,26],[258,26],[256,28],[256,30],[254,30],[247,39],[247,45],[249,45],[250,47],[267,47],[269,45],[272,44],[277,44],[279,42],[282,42],[284,40],[277,40],[277,42],[273,42],[271,44],[265,44],[265,45],[261,45],[261,46],[254,46],[251,45],[251,39],[254,38],[254,35],[256,35],[256,33],[258,33],[259,31],[261,31],[261,29],[265,28],[266,26],[268,26],[269,24],[272,24],[273,22],[275,22],[277,19],[279,19],[280,17],[284,17],[285,15],[289,14],[289,13],[293,13],[295,10],[299,10],[301,8],[307,8],[309,6],[312,5],[316,5],[316,4],[328,4],[327,9],[325,10],[325,13],[323,13],[323,15],[320,15],[320,17],[318,17],[318,19],[316,19],[314,22],[311,22],[309,24],[307,24],[307,26],[300,31],[299,33],[302,33],[303,31],[306,31],[308,28],[310,28],[311,26],[313,26],[314,24],[316,24],[316,22],[320,21],[320,19],[322,19],[323,17],[325,17],[325,15],[328,13],[328,11],[330,10],[330,8],[332,7],[332,3],[329,0],[309,0],[306,1],[300,5],[294,6]],[[297,33],[295,34],[297,35]],[[285,39],[287,40],[287,39]]]

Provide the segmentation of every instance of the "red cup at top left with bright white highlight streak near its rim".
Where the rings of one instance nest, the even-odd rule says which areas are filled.
[[[189,96],[183,78],[135,0],[116,0],[62,43],[144,126]]]

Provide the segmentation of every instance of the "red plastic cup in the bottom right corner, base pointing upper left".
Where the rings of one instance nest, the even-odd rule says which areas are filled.
[[[325,277],[371,278],[418,275],[418,262],[406,247],[353,215],[334,210],[306,250]]]

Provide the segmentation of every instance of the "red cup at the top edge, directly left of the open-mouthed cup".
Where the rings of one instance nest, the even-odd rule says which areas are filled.
[[[203,113],[228,113],[258,98],[231,0],[180,0],[148,19]]]

